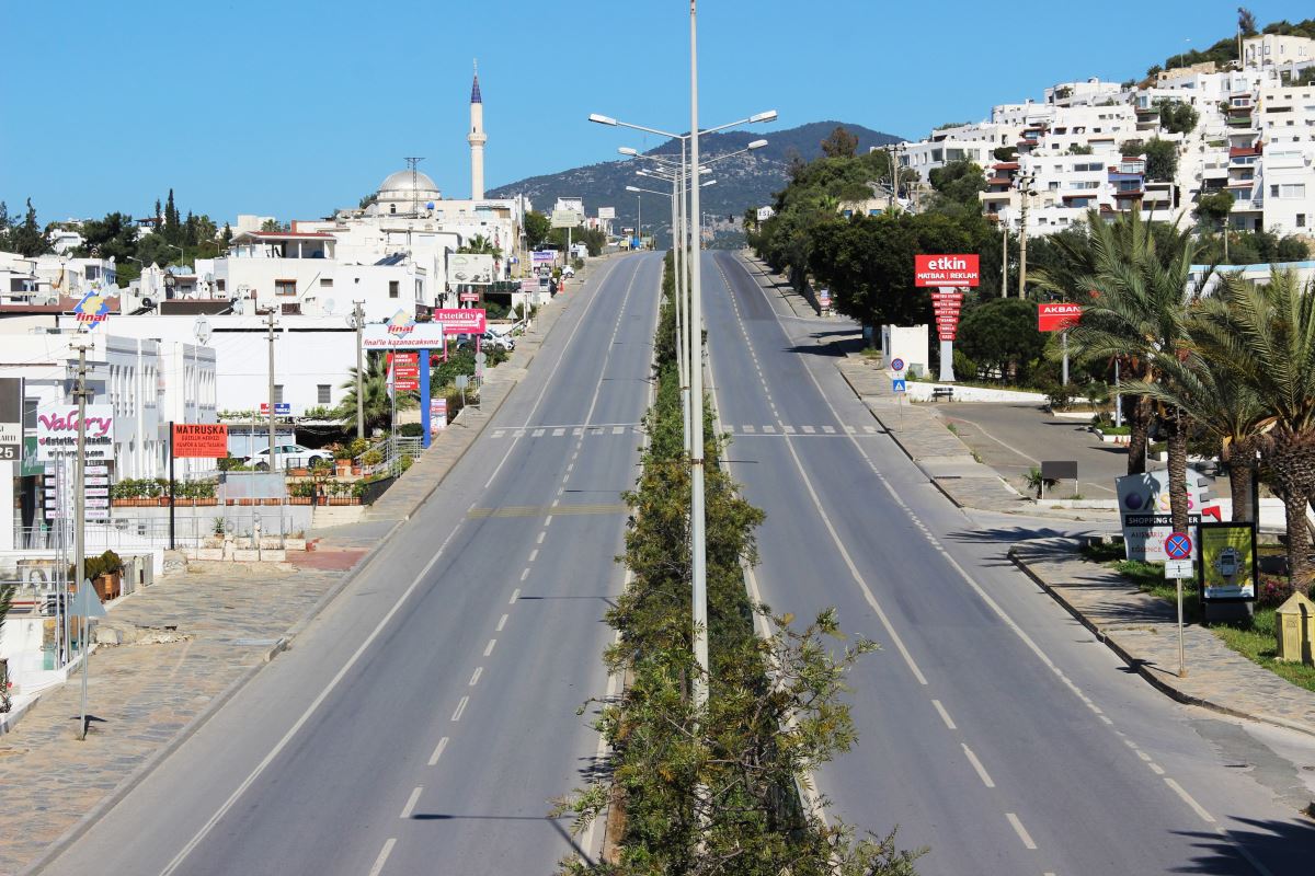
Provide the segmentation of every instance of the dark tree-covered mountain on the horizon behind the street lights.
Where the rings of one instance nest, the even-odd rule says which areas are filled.
[[[822,154],[822,141],[836,126],[844,127],[859,138],[860,154],[867,152],[871,146],[885,146],[901,139],[849,122],[811,122],[769,133],[722,131],[709,134],[700,138],[701,158],[705,160],[742,150],[759,138],[765,139],[767,146],[713,165],[711,176],[717,184],[702,189],[702,211],[707,214],[709,219],[717,217],[719,222],[725,222],[727,217],[740,218],[746,208],[769,204],[772,194],[785,188],[790,160],[796,155],[805,162],[818,158]],[[680,141],[667,141],[648,150],[646,155],[679,158]],[[544,213],[552,209],[559,197],[581,197],[589,215],[594,215],[600,206],[614,206],[617,221],[613,227],[619,231],[622,227],[634,226],[638,218],[636,196],[633,192],[626,192],[627,185],[661,192],[669,189],[669,185],[660,180],[644,180],[635,176],[635,171],[643,167],[652,167],[652,163],[622,159],[589,164],[559,173],[531,176],[508,183],[490,190],[489,197],[525,194],[537,210]],[[642,197],[644,198],[644,229],[652,227],[660,238],[667,236],[671,225],[668,202],[650,194]]]

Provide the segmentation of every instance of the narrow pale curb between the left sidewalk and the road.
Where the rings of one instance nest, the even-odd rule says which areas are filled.
[[[554,320],[554,327],[555,326],[556,322]],[[544,341],[548,339],[548,334],[551,334],[551,331],[552,328],[550,328],[548,332],[543,335]],[[540,343],[539,348],[542,349],[542,347],[543,345]],[[526,368],[529,368],[529,365],[534,361],[534,359],[538,356],[538,352],[539,351],[535,351],[534,356],[531,356],[529,361],[525,362]],[[316,600],[316,604],[312,605],[306,611],[306,613],[302,615],[296,623],[293,623],[293,625],[289,626],[288,630],[279,637],[277,642],[275,642],[262,654],[259,663],[250,666],[249,668],[243,670],[241,675],[233,679],[233,682],[222,691],[220,691],[214,696],[214,699],[212,699],[205,705],[204,709],[197,712],[196,716],[193,716],[192,720],[188,721],[187,725],[174,735],[174,738],[171,738],[168,742],[164,743],[163,747],[158,749],[154,754],[146,758],[146,760],[143,760],[135,770],[133,770],[129,775],[126,775],[122,779],[122,781],[114,785],[114,788],[110,789],[109,793],[101,797],[89,810],[87,810],[82,818],[74,822],[74,825],[68,827],[68,830],[66,830],[54,842],[46,846],[45,851],[42,851],[36,860],[33,860],[26,867],[20,869],[18,876],[33,876],[34,873],[39,873],[42,869],[53,864],[55,859],[58,859],[64,851],[67,851],[67,848],[71,844],[74,844],[78,839],[80,839],[88,830],[91,830],[91,827],[97,821],[100,821],[100,818],[104,817],[105,813],[108,813],[110,809],[118,805],[118,802],[122,801],[124,797],[126,797],[133,789],[135,789],[142,781],[145,781],[146,777],[150,776],[150,774],[154,772],[155,768],[160,763],[163,763],[166,758],[174,754],[189,738],[196,735],[196,732],[200,730],[201,726],[204,726],[206,721],[209,721],[214,716],[216,712],[218,712],[225,704],[227,704],[227,701],[231,700],[238,691],[246,687],[246,684],[251,679],[254,679],[258,672],[260,672],[260,670],[263,670],[270,662],[272,662],[275,657],[288,650],[292,646],[292,641],[302,632],[305,632],[306,626],[309,626],[310,623],[316,620],[316,617],[321,612],[323,612],[323,609],[327,608],[329,604],[334,599],[337,599],[337,596],[342,594],[343,590],[346,590],[356,578],[359,578],[367,567],[370,567],[370,565],[373,562],[375,557],[379,556],[379,552],[384,548],[384,545],[387,545],[389,540],[397,533],[397,529],[400,529],[412,517],[412,515],[416,514],[416,508],[425,504],[425,502],[427,502],[430,496],[434,495],[438,487],[442,486],[443,481],[447,479],[447,475],[451,473],[451,470],[456,468],[456,464],[460,462],[462,458],[466,457],[466,453],[469,452],[471,447],[475,445],[475,439],[477,439],[484,432],[484,428],[493,419],[493,415],[497,414],[498,408],[501,408],[502,402],[506,401],[506,398],[512,394],[512,390],[515,389],[515,385],[518,383],[519,381],[513,383],[513,386],[502,395],[502,401],[500,401],[497,403],[497,407],[494,407],[493,411],[489,412],[488,419],[484,422],[484,424],[480,426],[479,432],[475,432],[472,440],[467,444],[466,449],[462,450],[462,453],[452,460],[452,464],[447,466],[447,470],[443,471],[442,477],[438,478],[433,489],[426,491],[425,495],[421,496],[414,506],[412,506],[412,510],[408,511],[405,516],[396,520],[392,528],[389,528],[388,532],[381,538],[379,538],[373,544],[373,546],[371,546],[371,549],[356,562],[356,565],[348,569],[346,573],[343,573],[343,575],[338,579],[338,582],[333,587],[326,590],[323,595],[321,595],[320,599]],[[36,705],[36,700],[32,704],[29,704],[28,708],[30,709],[32,705]]]

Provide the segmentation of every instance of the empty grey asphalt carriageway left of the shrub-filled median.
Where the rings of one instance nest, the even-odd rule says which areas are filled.
[[[598,735],[602,623],[661,261],[576,286],[525,381],[370,569],[50,873],[548,873]],[[454,428],[460,428],[455,426]]]

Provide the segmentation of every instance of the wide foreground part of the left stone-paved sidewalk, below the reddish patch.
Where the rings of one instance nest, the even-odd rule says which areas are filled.
[[[263,566],[246,577],[168,575],[116,605],[103,628],[124,630],[125,641],[143,632],[174,641],[92,653],[85,741],[75,738],[79,676],[0,737],[0,873],[22,869],[220,705],[342,574]]]

